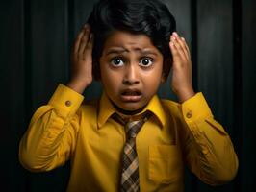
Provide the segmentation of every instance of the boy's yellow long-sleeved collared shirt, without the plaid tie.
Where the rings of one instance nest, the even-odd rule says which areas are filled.
[[[32,117],[20,141],[20,162],[41,172],[70,159],[67,191],[118,191],[124,129],[110,118],[115,108],[105,94],[81,105],[83,99],[60,84]],[[144,110],[154,115],[136,138],[142,192],[183,191],[185,164],[208,184],[235,177],[238,159],[232,142],[202,93],[181,105],[154,96]]]

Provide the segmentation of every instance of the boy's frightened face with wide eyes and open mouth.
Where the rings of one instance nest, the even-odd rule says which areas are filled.
[[[144,108],[163,78],[163,55],[145,35],[115,31],[100,58],[101,83],[115,107]]]

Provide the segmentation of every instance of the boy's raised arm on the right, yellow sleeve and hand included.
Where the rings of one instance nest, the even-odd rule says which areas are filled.
[[[238,158],[230,137],[214,119],[201,93],[192,88],[192,62],[183,37],[170,36],[173,56],[171,87],[181,103],[180,134],[185,160],[202,181],[222,184],[232,180],[238,169]]]

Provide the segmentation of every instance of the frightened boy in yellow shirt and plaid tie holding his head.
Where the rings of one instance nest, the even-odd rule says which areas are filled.
[[[180,192],[185,163],[208,184],[232,180],[231,140],[193,92],[190,51],[166,6],[101,0],[88,22],[74,45],[70,82],[38,108],[20,142],[22,165],[49,171],[70,159],[67,191]],[[171,63],[179,104],[156,95]],[[92,77],[104,93],[81,105]]]

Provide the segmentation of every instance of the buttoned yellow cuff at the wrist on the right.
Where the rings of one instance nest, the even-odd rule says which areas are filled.
[[[199,119],[213,117],[203,94],[196,93],[192,98],[181,104],[182,115],[186,122],[194,122]]]

